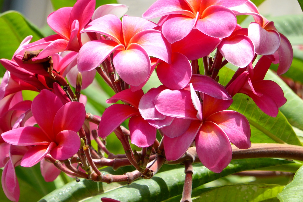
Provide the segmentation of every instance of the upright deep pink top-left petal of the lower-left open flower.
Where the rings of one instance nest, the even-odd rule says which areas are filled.
[[[46,104],[47,100],[47,104]],[[51,138],[53,135],[53,121],[58,110],[63,106],[61,100],[49,90],[42,90],[32,102],[32,113],[40,128]]]

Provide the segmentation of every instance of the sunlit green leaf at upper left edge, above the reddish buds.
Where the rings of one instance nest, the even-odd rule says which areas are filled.
[[[32,35],[32,41],[44,37],[38,28],[29,22],[22,14],[16,11],[7,11],[0,14],[0,59],[12,59],[22,40]],[[3,77],[5,68],[0,64],[0,77]]]

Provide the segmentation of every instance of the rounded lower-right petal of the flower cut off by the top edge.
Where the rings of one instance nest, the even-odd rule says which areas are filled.
[[[237,24],[235,14],[221,5],[207,7],[203,11],[201,18],[197,21],[197,29],[212,37],[228,37]]]

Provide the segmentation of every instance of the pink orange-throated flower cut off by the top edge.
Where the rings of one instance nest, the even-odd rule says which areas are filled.
[[[183,39],[196,27],[212,37],[229,36],[237,24],[235,14],[229,7],[242,5],[247,0],[158,0],[142,15],[151,19],[167,16],[162,33],[170,42]]]

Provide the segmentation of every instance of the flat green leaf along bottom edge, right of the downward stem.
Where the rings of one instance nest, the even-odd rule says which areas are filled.
[[[277,194],[284,186],[274,184],[236,184],[192,191],[191,199],[194,202],[274,202],[278,201]],[[181,195],[165,202],[178,202]]]

